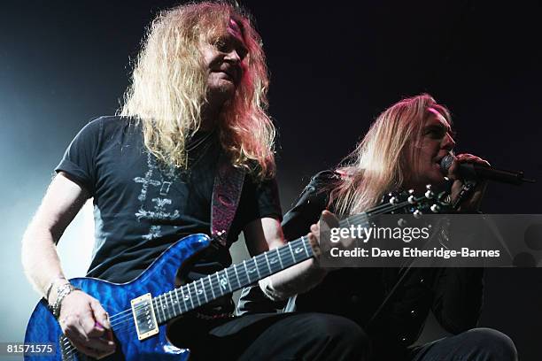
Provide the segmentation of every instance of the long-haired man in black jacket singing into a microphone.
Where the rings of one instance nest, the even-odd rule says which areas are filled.
[[[453,152],[450,112],[429,95],[406,98],[383,111],[362,141],[333,171],[316,174],[284,216],[287,240],[310,227],[318,234],[320,217],[367,211],[392,191],[450,187],[452,201],[463,182],[462,162],[487,164],[470,154],[455,156],[449,172],[440,167]],[[447,175],[451,180],[445,180]],[[451,184],[450,184],[451,183]],[[461,203],[460,211],[478,211],[484,184]],[[326,210],[326,211],[324,211]],[[323,213],[322,213],[323,211]],[[311,225],[313,224],[313,225]],[[474,328],[482,306],[479,268],[345,268],[329,272],[321,284],[295,300],[298,312],[319,311],[355,321],[368,333],[372,360],[515,360],[514,343],[489,328]],[[241,313],[273,311],[258,288],[246,288]],[[291,309],[291,307],[290,307]],[[453,336],[413,346],[429,312]]]

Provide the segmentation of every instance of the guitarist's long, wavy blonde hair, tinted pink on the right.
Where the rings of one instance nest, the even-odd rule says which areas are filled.
[[[160,12],[143,39],[120,115],[143,123],[144,144],[166,164],[187,165],[185,147],[202,122],[207,70],[202,42],[214,43],[234,19],[248,54],[243,79],[224,104],[221,146],[232,163],[257,178],[275,171],[275,127],[267,116],[265,55],[249,15],[227,2],[184,4]]]

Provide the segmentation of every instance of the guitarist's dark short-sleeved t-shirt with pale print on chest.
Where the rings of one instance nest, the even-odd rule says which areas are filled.
[[[96,243],[89,277],[133,280],[183,236],[210,234],[218,135],[198,132],[187,150],[188,170],[164,165],[145,148],[140,122],[122,117],[95,119],[75,136],[56,171],[68,173],[94,198]],[[282,217],[276,182],[247,175],[228,243],[247,223],[264,217]],[[230,264],[227,249],[209,248],[189,279]]]

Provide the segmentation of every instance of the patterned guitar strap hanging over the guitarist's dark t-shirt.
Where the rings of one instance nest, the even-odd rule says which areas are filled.
[[[228,232],[243,190],[245,172],[230,163],[228,155],[221,153],[218,171],[214,177],[211,203],[211,235],[222,246],[228,247]]]

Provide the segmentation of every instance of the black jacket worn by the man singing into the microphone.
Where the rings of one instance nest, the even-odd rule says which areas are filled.
[[[328,204],[328,186],[337,173],[316,174],[283,219],[287,240],[306,234]],[[395,289],[393,289],[395,288]],[[329,273],[316,288],[295,300],[295,311],[318,311],[352,319],[369,335],[373,349],[406,349],[433,311],[451,334],[476,326],[482,306],[480,268],[345,268]],[[384,300],[387,301],[384,302]],[[277,311],[258,286],[245,288],[237,313]]]

